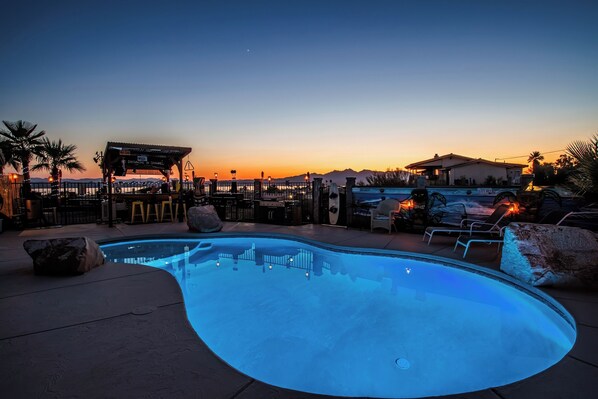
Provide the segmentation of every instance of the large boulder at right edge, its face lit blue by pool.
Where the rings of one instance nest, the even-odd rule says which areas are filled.
[[[598,286],[598,235],[578,227],[512,223],[500,269],[534,286]]]

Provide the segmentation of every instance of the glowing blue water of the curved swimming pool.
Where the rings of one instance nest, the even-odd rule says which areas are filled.
[[[214,353],[299,391],[475,391],[545,370],[576,336],[571,316],[540,291],[461,262],[247,236],[102,250],[170,272]]]

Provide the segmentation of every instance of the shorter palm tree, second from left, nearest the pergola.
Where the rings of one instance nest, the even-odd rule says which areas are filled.
[[[47,170],[52,178],[52,196],[58,197],[59,181],[62,175],[62,169],[69,172],[83,172],[85,168],[75,157],[76,145],[63,144],[61,139],[50,141],[44,137],[42,139],[42,148],[37,156],[37,165],[31,170]]]

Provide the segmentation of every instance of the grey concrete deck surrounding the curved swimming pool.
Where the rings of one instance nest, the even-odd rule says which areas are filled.
[[[318,225],[225,223],[226,232],[292,234],[331,244],[461,259],[455,237]],[[189,234],[184,223],[85,224],[0,234],[0,393],[4,398],[325,398],[277,388],[230,368],[195,334],[176,281],[165,271],[108,263],[82,276],[35,276],[27,239],[94,240]],[[200,236],[199,234],[192,234]],[[497,270],[495,247],[470,249],[467,262]],[[577,341],[558,364],[503,387],[451,396],[468,399],[598,396],[598,292],[544,289],[575,318]],[[292,362],[290,362],[292,363]],[[291,366],[291,364],[290,364]]]

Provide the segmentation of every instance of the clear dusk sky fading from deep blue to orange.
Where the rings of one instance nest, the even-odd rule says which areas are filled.
[[[511,158],[598,131],[595,1],[15,1],[2,14],[0,119],[76,144],[88,171],[73,177],[100,175],[109,140],[189,146],[196,175],[253,178]]]

